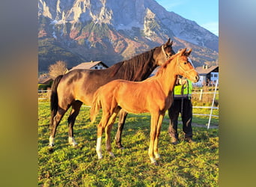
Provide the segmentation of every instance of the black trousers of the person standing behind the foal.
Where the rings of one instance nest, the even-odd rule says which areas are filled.
[[[181,111],[183,109],[183,111]],[[168,114],[170,117],[170,125],[168,128],[168,133],[172,138],[178,139],[177,133],[177,123],[179,114],[183,122],[183,132],[185,134],[184,138],[192,138],[192,102],[190,99],[174,99],[174,102],[171,104],[171,108],[168,109]]]

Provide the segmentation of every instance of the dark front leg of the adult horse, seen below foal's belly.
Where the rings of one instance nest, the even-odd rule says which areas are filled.
[[[123,145],[121,144],[121,141],[122,141],[121,136],[122,136],[122,132],[123,132],[123,129],[124,129],[125,120],[127,119],[127,114],[128,113],[124,110],[121,110],[119,112],[118,131],[115,134],[115,144],[118,145],[119,149],[124,149]]]

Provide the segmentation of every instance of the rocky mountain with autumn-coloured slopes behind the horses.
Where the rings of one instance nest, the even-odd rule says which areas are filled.
[[[174,50],[192,48],[195,66],[218,63],[219,37],[154,0],[39,0],[39,71],[55,61],[111,66],[174,40]]]

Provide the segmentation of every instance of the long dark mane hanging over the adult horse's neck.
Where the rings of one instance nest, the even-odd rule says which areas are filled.
[[[112,76],[115,76],[116,73],[121,71],[124,75],[125,80],[131,81],[141,81],[146,79],[149,75],[147,72],[152,72],[153,70],[148,70],[146,67],[150,67],[150,69],[154,69],[155,67],[150,66],[152,63],[151,59],[153,58],[153,52],[156,48],[150,49],[150,51],[141,53],[140,55],[136,55],[135,57],[127,60],[121,61],[117,64],[114,64],[112,67],[114,70],[112,71]],[[151,64],[152,65],[152,64]],[[141,77],[141,75],[145,75]]]

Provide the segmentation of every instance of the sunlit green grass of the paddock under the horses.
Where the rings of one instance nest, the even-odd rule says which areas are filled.
[[[67,113],[68,114],[68,113]],[[168,115],[162,123],[159,141],[159,165],[150,164],[147,154],[150,114],[129,114],[123,132],[124,150],[118,150],[112,129],[115,158],[106,153],[103,136],[103,159],[97,159],[97,123],[89,120],[89,108],[82,107],[74,126],[77,147],[67,143],[67,114],[61,120],[50,151],[49,102],[38,108],[38,185],[39,186],[218,186],[218,129],[193,126],[197,144],[170,144]],[[195,118],[195,117],[194,117]],[[100,115],[97,117],[97,122]],[[196,119],[195,119],[196,120]],[[182,138],[179,125],[180,138]]]

